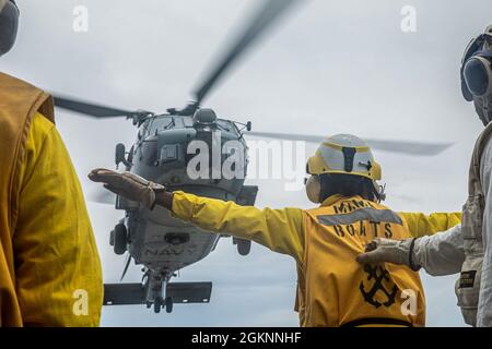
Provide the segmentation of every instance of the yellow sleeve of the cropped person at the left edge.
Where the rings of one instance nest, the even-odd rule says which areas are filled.
[[[31,128],[14,232],[23,324],[98,326],[103,277],[79,179],[55,125],[36,113]]]

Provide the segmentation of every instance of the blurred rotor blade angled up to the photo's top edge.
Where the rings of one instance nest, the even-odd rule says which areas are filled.
[[[241,35],[233,45],[225,51],[226,53],[218,60],[214,68],[202,81],[194,93],[195,106],[199,106],[214,87],[218,80],[224,72],[246,51],[251,44],[260,37],[289,8],[300,0],[266,0],[258,12],[251,17]]]

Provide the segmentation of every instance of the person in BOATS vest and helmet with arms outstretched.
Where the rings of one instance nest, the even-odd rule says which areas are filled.
[[[405,240],[432,233],[458,224],[459,214],[397,214],[379,204],[380,167],[367,144],[353,135],[327,139],[308,159],[307,172],[307,195],[320,204],[312,209],[258,209],[167,192],[129,172],[96,169],[89,177],[150,209],[161,205],[202,229],[291,255],[297,265],[302,326],[424,326],[417,272],[405,265],[361,265],[355,258],[376,237]]]

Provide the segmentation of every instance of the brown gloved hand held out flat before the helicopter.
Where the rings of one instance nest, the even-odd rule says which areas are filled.
[[[153,183],[147,179],[130,173],[116,172],[98,168],[89,173],[89,179],[94,182],[103,182],[104,188],[125,198],[142,203],[147,208],[155,206],[156,192],[165,191],[165,186]]]

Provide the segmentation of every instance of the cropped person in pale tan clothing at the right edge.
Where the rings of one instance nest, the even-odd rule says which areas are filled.
[[[484,125],[471,156],[461,225],[415,239],[411,250],[399,241],[377,239],[359,260],[405,264],[411,256],[430,275],[460,273],[455,293],[465,323],[492,327],[492,25],[465,50],[461,92]]]

